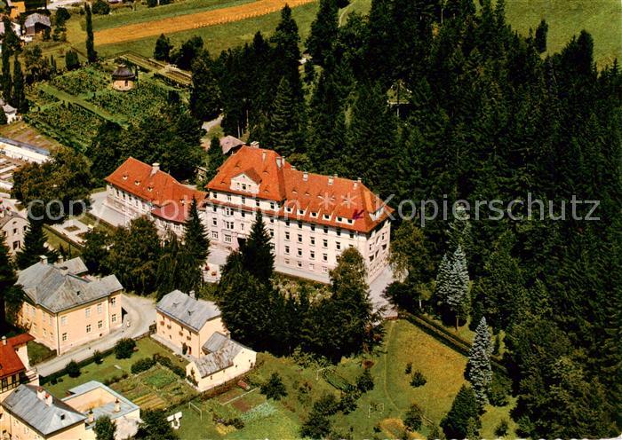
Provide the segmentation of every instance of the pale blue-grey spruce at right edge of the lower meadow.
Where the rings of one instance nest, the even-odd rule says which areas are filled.
[[[475,330],[473,345],[469,350],[468,363],[466,364],[466,379],[471,382],[481,408],[488,403],[488,389],[490,381],[492,381],[491,352],[490,331],[486,324],[486,318],[482,317]]]

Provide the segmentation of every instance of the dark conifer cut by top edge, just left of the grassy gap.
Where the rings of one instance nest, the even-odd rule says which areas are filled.
[[[332,50],[339,31],[339,9],[336,0],[321,0],[320,9],[307,38],[307,51],[315,64],[323,66],[324,58]]]

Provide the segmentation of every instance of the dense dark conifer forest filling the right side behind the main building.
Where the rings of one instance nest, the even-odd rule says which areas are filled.
[[[596,69],[585,31],[545,57],[546,22],[522,36],[503,0],[479,6],[373,0],[368,16],[339,26],[339,5],[322,0],[306,42],[285,7],[270,38],[203,63],[193,93],[218,88],[227,134],[248,133],[300,169],[362,177],[382,197],[395,194],[394,208],[542,200],[533,212],[516,208],[520,221],[462,216],[419,229],[419,217],[396,220],[395,255],[409,270],[388,294],[411,311],[420,298],[459,324],[485,317],[505,334],[521,435],[615,435],[622,76],[617,63]],[[599,219],[576,219],[586,203],[570,216],[573,198],[600,200]],[[451,273],[466,286],[460,303],[451,303]]]

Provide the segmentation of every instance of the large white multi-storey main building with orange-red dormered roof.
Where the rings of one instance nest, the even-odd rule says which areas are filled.
[[[242,145],[207,186],[204,222],[212,246],[238,248],[261,209],[275,270],[319,281],[346,248],[357,248],[368,280],[387,266],[390,214],[360,180],[300,171],[272,150]]]

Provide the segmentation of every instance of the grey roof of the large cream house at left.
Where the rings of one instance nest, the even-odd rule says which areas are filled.
[[[115,275],[91,281],[43,262],[20,271],[17,284],[23,287],[24,293],[33,303],[52,312],[106,298],[124,288]]]

